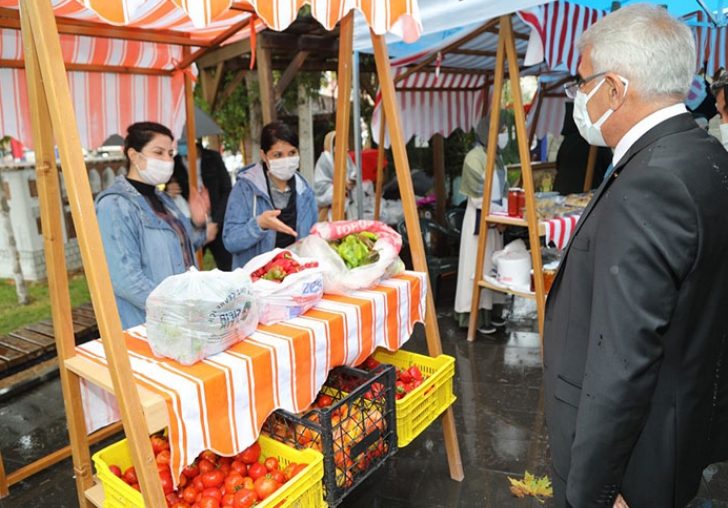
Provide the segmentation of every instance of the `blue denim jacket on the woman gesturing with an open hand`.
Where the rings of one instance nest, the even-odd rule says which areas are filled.
[[[276,232],[261,229],[257,221],[261,212],[273,209],[263,165],[258,163],[243,168],[237,176],[238,180],[228,198],[222,230],[225,248],[233,255],[233,270],[244,266],[258,254],[273,250],[276,241]],[[300,240],[308,236],[318,220],[318,208],[316,196],[306,179],[300,173],[296,173],[294,178],[297,193],[296,239]]]

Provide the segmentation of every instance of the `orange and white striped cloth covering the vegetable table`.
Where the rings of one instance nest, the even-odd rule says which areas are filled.
[[[137,382],[166,402],[175,480],[205,449],[228,456],[245,449],[275,409],[306,409],[330,369],[358,365],[379,346],[399,349],[415,323],[424,322],[426,288],[426,274],[405,272],[351,296],[325,295],[304,315],[260,325],[243,342],[191,366],[155,357],[144,325],[125,331]],[[107,365],[100,339],[76,352]],[[99,392],[83,383],[89,432],[119,419],[113,396]]]

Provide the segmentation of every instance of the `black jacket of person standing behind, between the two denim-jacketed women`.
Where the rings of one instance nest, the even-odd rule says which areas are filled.
[[[200,149],[198,148],[198,151]],[[216,222],[222,233],[222,226],[225,221],[225,209],[227,208],[227,199],[233,188],[230,174],[225,168],[225,163],[219,153],[207,148],[202,149],[201,155],[201,172],[202,183],[210,194],[210,218],[212,222]],[[194,165],[193,165],[194,167]],[[177,155],[174,158],[174,178],[182,187],[182,196],[190,199],[190,184],[187,168],[182,162],[182,158]]]

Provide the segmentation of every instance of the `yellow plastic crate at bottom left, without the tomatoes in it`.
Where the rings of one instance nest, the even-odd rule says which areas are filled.
[[[316,450],[296,450],[283,443],[278,443],[265,436],[258,438],[261,457],[276,457],[282,467],[296,462],[308,464],[306,469],[278,489],[258,508],[322,508],[324,492],[321,480],[324,476],[324,457]],[[131,488],[121,478],[109,470],[109,465],[116,464],[125,471],[132,465],[126,439],[104,448],[93,456],[96,475],[104,486],[104,508],[144,508],[141,492]]]

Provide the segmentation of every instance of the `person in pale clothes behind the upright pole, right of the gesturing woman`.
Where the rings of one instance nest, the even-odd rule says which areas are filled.
[[[313,174],[313,186],[316,191],[316,204],[318,205],[318,220],[323,222],[331,219],[331,203],[334,200],[334,140],[336,131],[331,131],[324,137],[324,151],[316,161]],[[356,206],[353,201],[356,187],[356,166],[351,157],[346,157],[346,214],[355,218]]]

